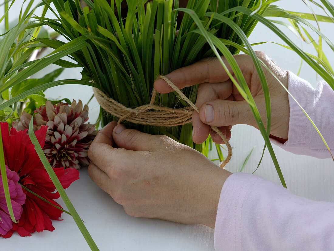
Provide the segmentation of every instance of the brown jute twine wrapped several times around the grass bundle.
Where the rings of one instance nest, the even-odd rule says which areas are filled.
[[[94,95],[106,112],[119,118],[117,124],[120,124],[123,120],[135,124],[151,126],[178,126],[190,123],[193,111],[195,110],[196,112],[199,112],[199,109],[169,79],[162,75],[158,76],[158,78],[166,81],[167,84],[190,106],[178,109],[157,106],[154,104],[157,95],[157,92],[154,89],[150,103],[134,109],[118,103],[114,99],[108,97],[100,89],[94,88]],[[220,167],[223,168],[232,157],[232,147],[225,135],[217,127],[211,126],[211,130],[216,132],[223,139],[228,149],[227,157],[220,164]]]

